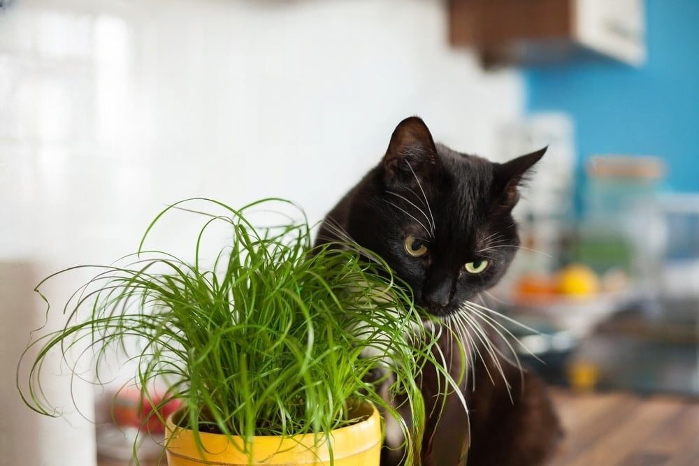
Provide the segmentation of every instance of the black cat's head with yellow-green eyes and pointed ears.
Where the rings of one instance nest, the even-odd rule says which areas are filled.
[[[408,282],[437,316],[496,284],[519,246],[512,207],[546,149],[493,163],[435,145],[418,117],[398,124],[356,187],[347,232]]]

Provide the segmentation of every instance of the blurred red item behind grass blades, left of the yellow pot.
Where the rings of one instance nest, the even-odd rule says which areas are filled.
[[[136,387],[122,388],[115,394],[112,401],[113,421],[115,425],[122,428],[134,427],[150,434],[165,432],[165,426],[160,418],[166,419],[182,405],[182,402],[170,400],[161,405],[163,400],[164,393],[158,391],[151,391],[146,395]],[[159,406],[160,416],[153,412],[154,406]]]

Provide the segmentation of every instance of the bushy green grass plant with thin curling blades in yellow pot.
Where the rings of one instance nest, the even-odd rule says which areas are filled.
[[[96,384],[120,354],[138,367],[130,384],[152,403],[150,416],[180,400],[174,420],[193,432],[202,455],[211,432],[243,439],[233,443],[248,458],[255,436],[313,434],[315,445],[329,446],[333,463],[332,432],[356,423],[354,409],[370,402],[403,428],[409,464],[419,458],[426,417],[421,370],[431,363],[444,376],[445,392],[456,387],[436,346],[439,335],[425,330],[433,328],[424,325],[428,316],[380,259],[367,261],[352,245],[313,248],[305,220],[285,217],[265,228],[250,220],[252,212],[280,205],[291,204],[265,200],[233,209],[189,199],[160,212],[138,252],[95,268],[62,307],[65,325],[29,344],[32,352],[20,361],[20,368],[28,363],[28,380],[17,372],[24,402],[57,415],[42,391],[50,354],[61,354],[73,377],[84,377],[77,368],[87,360]],[[145,248],[152,228],[173,210],[201,219],[191,261]],[[226,244],[207,258],[214,225],[226,229]],[[78,268],[84,267],[92,266]],[[389,373],[389,392],[408,403],[409,423],[376,390]],[[166,396],[155,402],[149,387],[163,382]]]

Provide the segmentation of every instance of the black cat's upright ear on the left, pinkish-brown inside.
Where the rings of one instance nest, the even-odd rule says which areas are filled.
[[[415,182],[428,177],[438,167],[437,148],[430,130],[418,117],[398,123],[383,159],[384,180],[394,183]]]

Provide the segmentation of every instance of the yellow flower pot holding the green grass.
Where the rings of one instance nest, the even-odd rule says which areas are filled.
[[[378,466],[382,444],[381,419],[373,405],[365,403],[356,410],[362,421],[331,432],[335,466]],[[168,466],[247,466],[247,465],[330,465],[330,449],[323,439],[305,434],[282,438],[253,437],[252,458],[243,453],[242,437],[200,432],[199,451],[194,432],[175,426],[168,418],[166,433]],[[234,443],[232,443],[234,442]],[[236,447],[237,445],[237,447]]]

